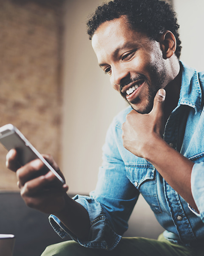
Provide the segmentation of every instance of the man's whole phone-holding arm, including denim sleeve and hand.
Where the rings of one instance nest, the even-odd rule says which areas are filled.
[[[126,114],[122,120],[125,116]],[[74,200],[68,198],[67,185],[60,190],[56,184],[54,189],[51,181],[52,175],[42,175],[42,170],[38,166],[41,162],[38,160],[24,166],[23,169],[18,169],[15,151],[13,151],[14,156],[12,156],[12,151],[8,153],[7,167],[13,171],[18,169],[19,187],[26,204],[42,212],[52,213],[49,221],[60,237],[65,238],[69,235],[82,246],[112,250],[127,230],[127,221],[139,196],[139,191],[126,177],[125,163],[117,145],[119,141],[122,147],[121,136],[119,118],[119,121],[118,119],[113,121],[108,129],[98,183],[90,197],[76,195]],[[48,160],[47,157],[46,159]],[[52,160],[48,161],[52,162],[54,169],[63,177],[59,167]],[[38,174],[37,180],[33,177],[34,173]],[[40,186],[41,182],[42,186]]]

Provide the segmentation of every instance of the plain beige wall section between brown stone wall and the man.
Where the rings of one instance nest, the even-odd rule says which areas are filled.
[[[67,0],[63,62],[62,166],[70,192],[95,188],[107,128],[126,103],[99,68],[86,17],[101,0]]]

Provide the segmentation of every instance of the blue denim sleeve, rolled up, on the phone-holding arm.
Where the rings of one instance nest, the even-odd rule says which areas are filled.
[[[102,166],[99,168],[96,189],[90,196],[76,195],[73,199],[88,212],[90,233],[88,241],[82,241],[72,234],[58,218],[51,215],[50,223],[54,230],[65,238],[89,248],[113,250],[127,230],[127,221],[139,196],[139,191],[126,176],[125,163],[121,152],[128,152],[122,145],[121,125],[125,122],[125,110],[122,120],[114,119],[108,129],[103,146]],[[130,153],[128,153],[130,154]]]

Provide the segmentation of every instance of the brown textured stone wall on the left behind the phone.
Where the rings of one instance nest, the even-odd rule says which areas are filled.
[[[0,126],[60,162],[62,0],[0,0]],[[0,145],[0,189],[17,189]]]

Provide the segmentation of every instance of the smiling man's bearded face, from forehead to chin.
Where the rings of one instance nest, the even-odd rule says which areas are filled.
[[[102,23],[92,46],[113,88],[139,113],[149,113],[168,81],[160,43],[129,28],[124,16]]]

